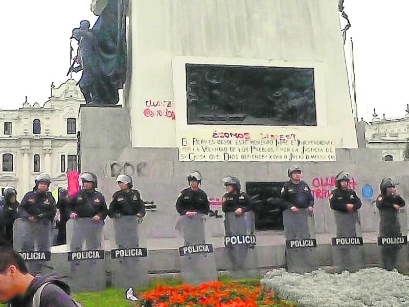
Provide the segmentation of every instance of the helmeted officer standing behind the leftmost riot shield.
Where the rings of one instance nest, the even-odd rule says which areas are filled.
[[[19,216],[25,220],[53,221],[57,212],[54,197],[48,190],[51,184],[51,177],[48,173],[40,173],[35,179],[35,187],[26,193],[18,206]]]

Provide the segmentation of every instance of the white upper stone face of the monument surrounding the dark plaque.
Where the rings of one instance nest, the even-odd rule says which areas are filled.
[[[186,119],[178,111],[186,109],[186,85],[175,82],[183,77],[180,57],[316,68],[318,125],[306,128],[329,132],[337,148],[357,147],[337,0],[133,0],[128,38],[133,147],[176,147],[178,121]],[[176,120],[146,116],[149,100],[171,101]]]

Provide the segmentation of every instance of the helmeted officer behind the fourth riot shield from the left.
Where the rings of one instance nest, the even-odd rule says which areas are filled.
[[[176,201],[176,210],[180,215],[192,218],[197,213],[208,214],[210,210],[208,195],[199,188],[201,174],[195,170],[187,177],[189,188],[182,190]]]

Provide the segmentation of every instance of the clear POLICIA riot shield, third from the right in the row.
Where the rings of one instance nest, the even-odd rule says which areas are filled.
[[[285,255],[288,272],[303,273],[317,269],[313,214],[308,212],[307,209],[299,209],[297,213],[287,209],[283,212],[283,224],[286,237]]]

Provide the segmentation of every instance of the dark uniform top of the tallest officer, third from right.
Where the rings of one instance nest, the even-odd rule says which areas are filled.
[[[292,206],[297,208],[308,208],[314,206],[314,196],[311,189],[304,181],[294,184],[291,180],[286,182],[281,189],[281,198],[283,200],[283,209],[289,209]]]

